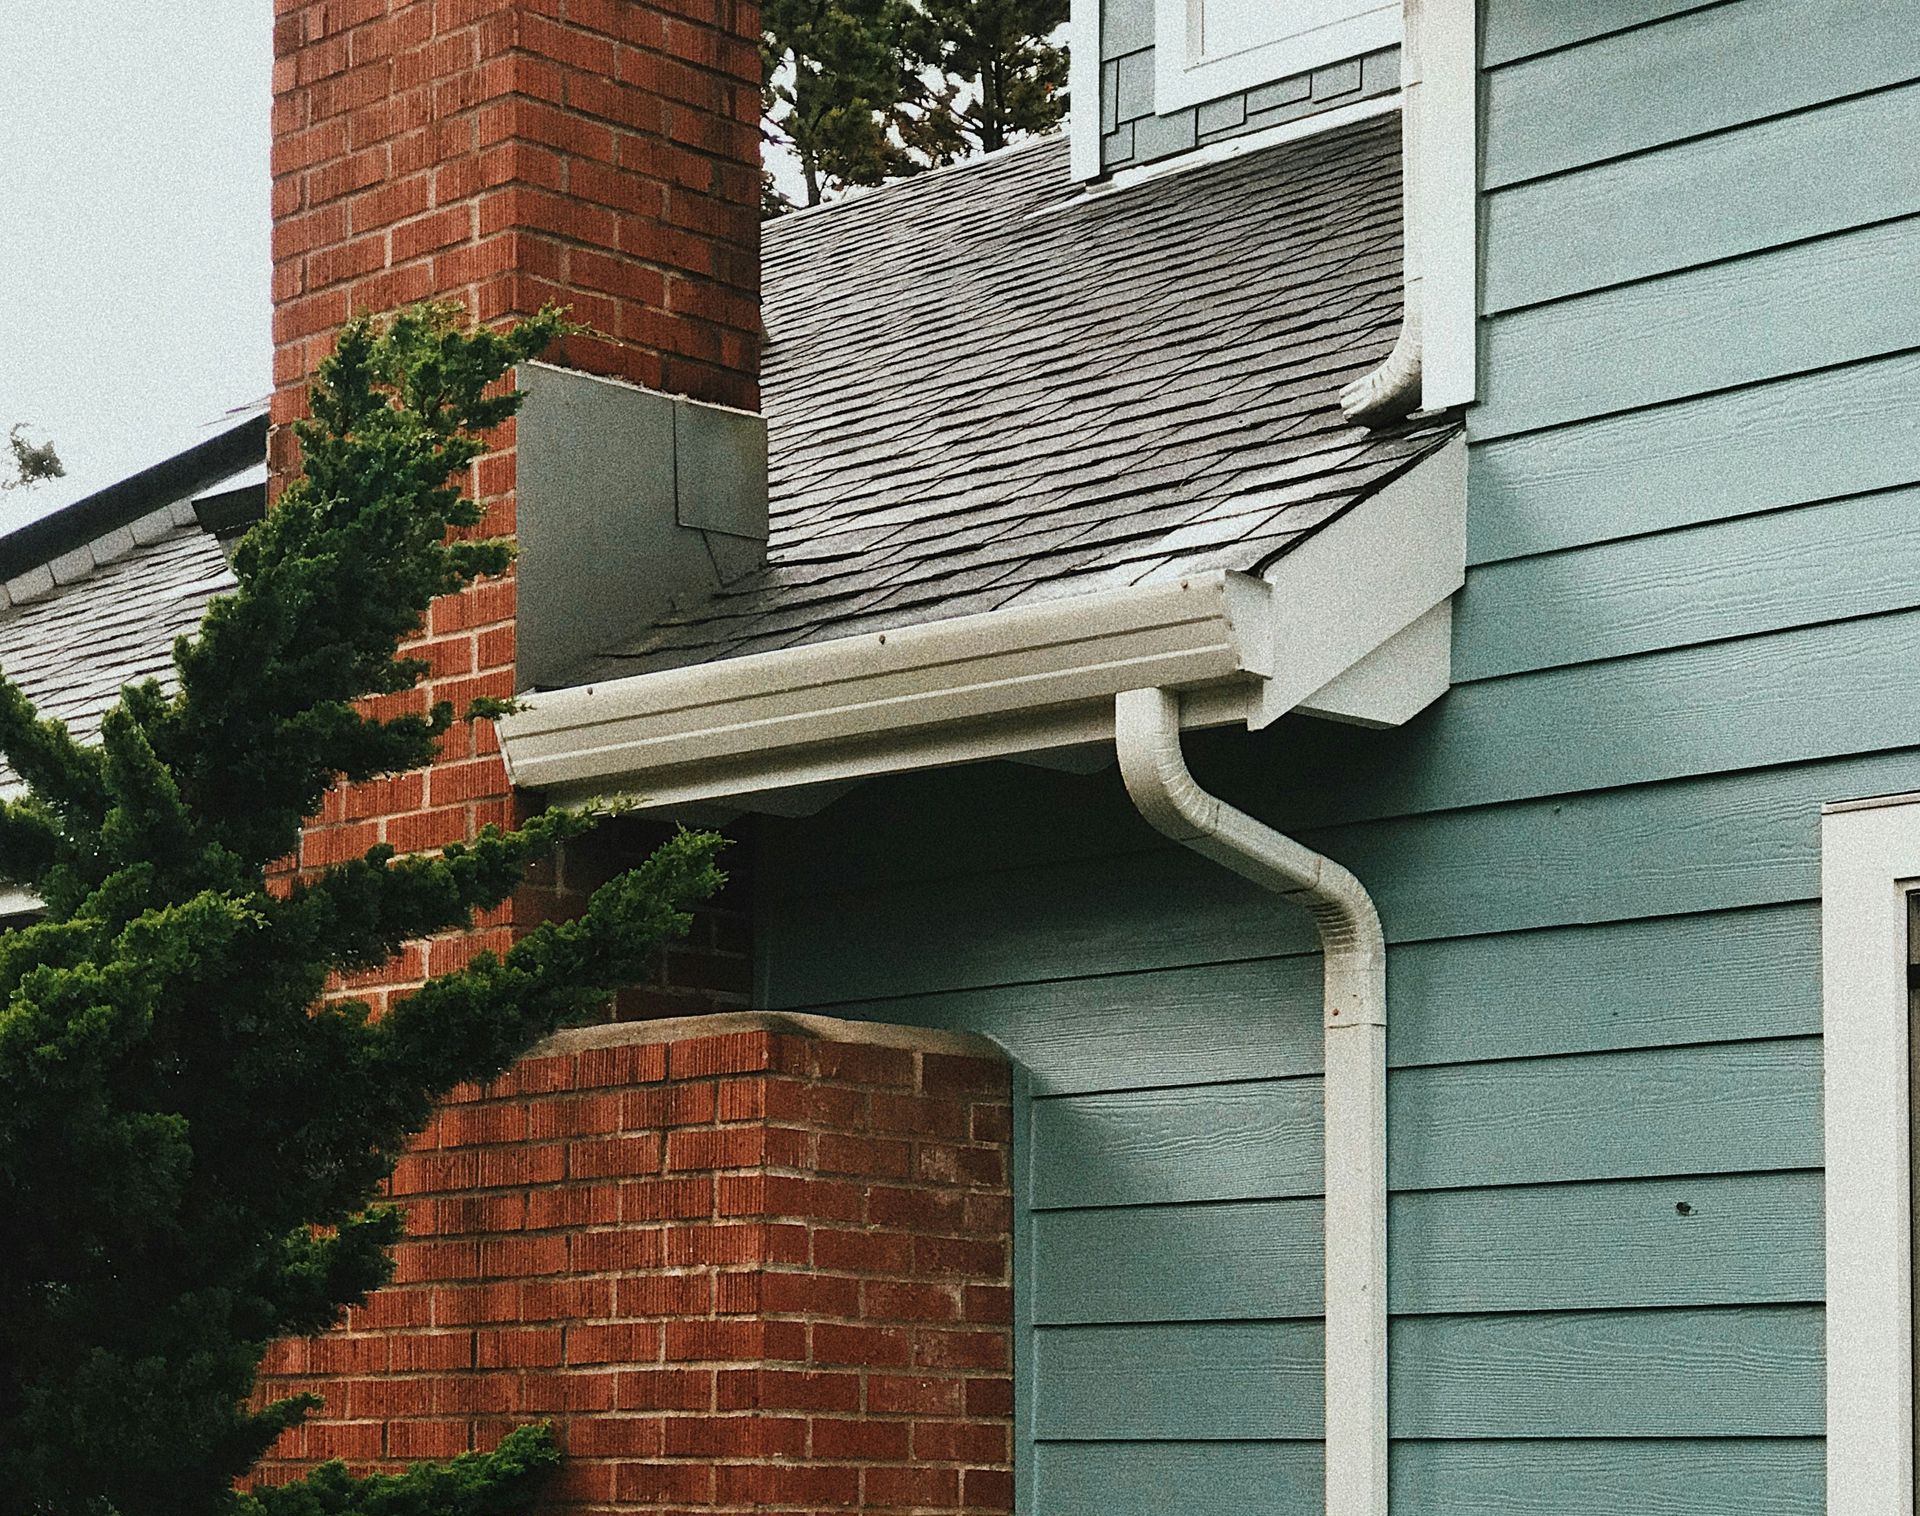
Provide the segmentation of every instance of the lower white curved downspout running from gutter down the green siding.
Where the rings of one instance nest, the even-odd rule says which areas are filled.
[[[1386,936],[1365,887],[1194,783],[1181,700],[1116,699],[1127,794],[1158,831],[1300,904],[1327,961],[1327,1516],[1386,1516]]]

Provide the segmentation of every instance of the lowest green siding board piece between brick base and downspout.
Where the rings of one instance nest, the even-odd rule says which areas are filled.
[[[1306,1516],[1319,1443],[1041,1443],[1035,1516]]]

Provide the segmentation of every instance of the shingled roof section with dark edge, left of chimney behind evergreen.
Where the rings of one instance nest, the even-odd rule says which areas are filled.
[[[232,589],[227,555],[196,497],[257,489],[265,503],[267,416],[0,537],[0,672],[81,739],[121,685],[171,681],[173,639]],[[0,766],[0,791],[19,781]]]

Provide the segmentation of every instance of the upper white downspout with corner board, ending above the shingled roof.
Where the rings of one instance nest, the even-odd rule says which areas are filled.
[[[1475,397],[1478,54],[1473,0],[1405,0],[1400,46],[1400,175],[1405,290],[1400,336],[1340,391],[1357,426]]]

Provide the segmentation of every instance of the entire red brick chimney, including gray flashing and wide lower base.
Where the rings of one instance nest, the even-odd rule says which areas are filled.
[[[520,558],[434,604],[413,649],[432,674],[392,706],[564,679],[618,618],[751,566],[756,6],[276,4],[275,466],[353,311],[557,301],[605,334],[555,355],[586,374],[520,372],[528,403],[472,482],[482,530]],[[442,846],[518,804],[492,727],[457,725],[426,771],[336,789],[300,862]],[[639,825],[348,990],[378,1009],[507,948],[643,850]],[[394,1180],[411,1234],[394,1288],[275,1347],[265,1387],[324,1409],[263,1478],[551,1420],[555,1512],[1010,1510],[1006,1063],[941,1032],[705,1015],[747,1006],[735,902],[616,1007],[649,1025],[563,1032],[455,1094]]]

